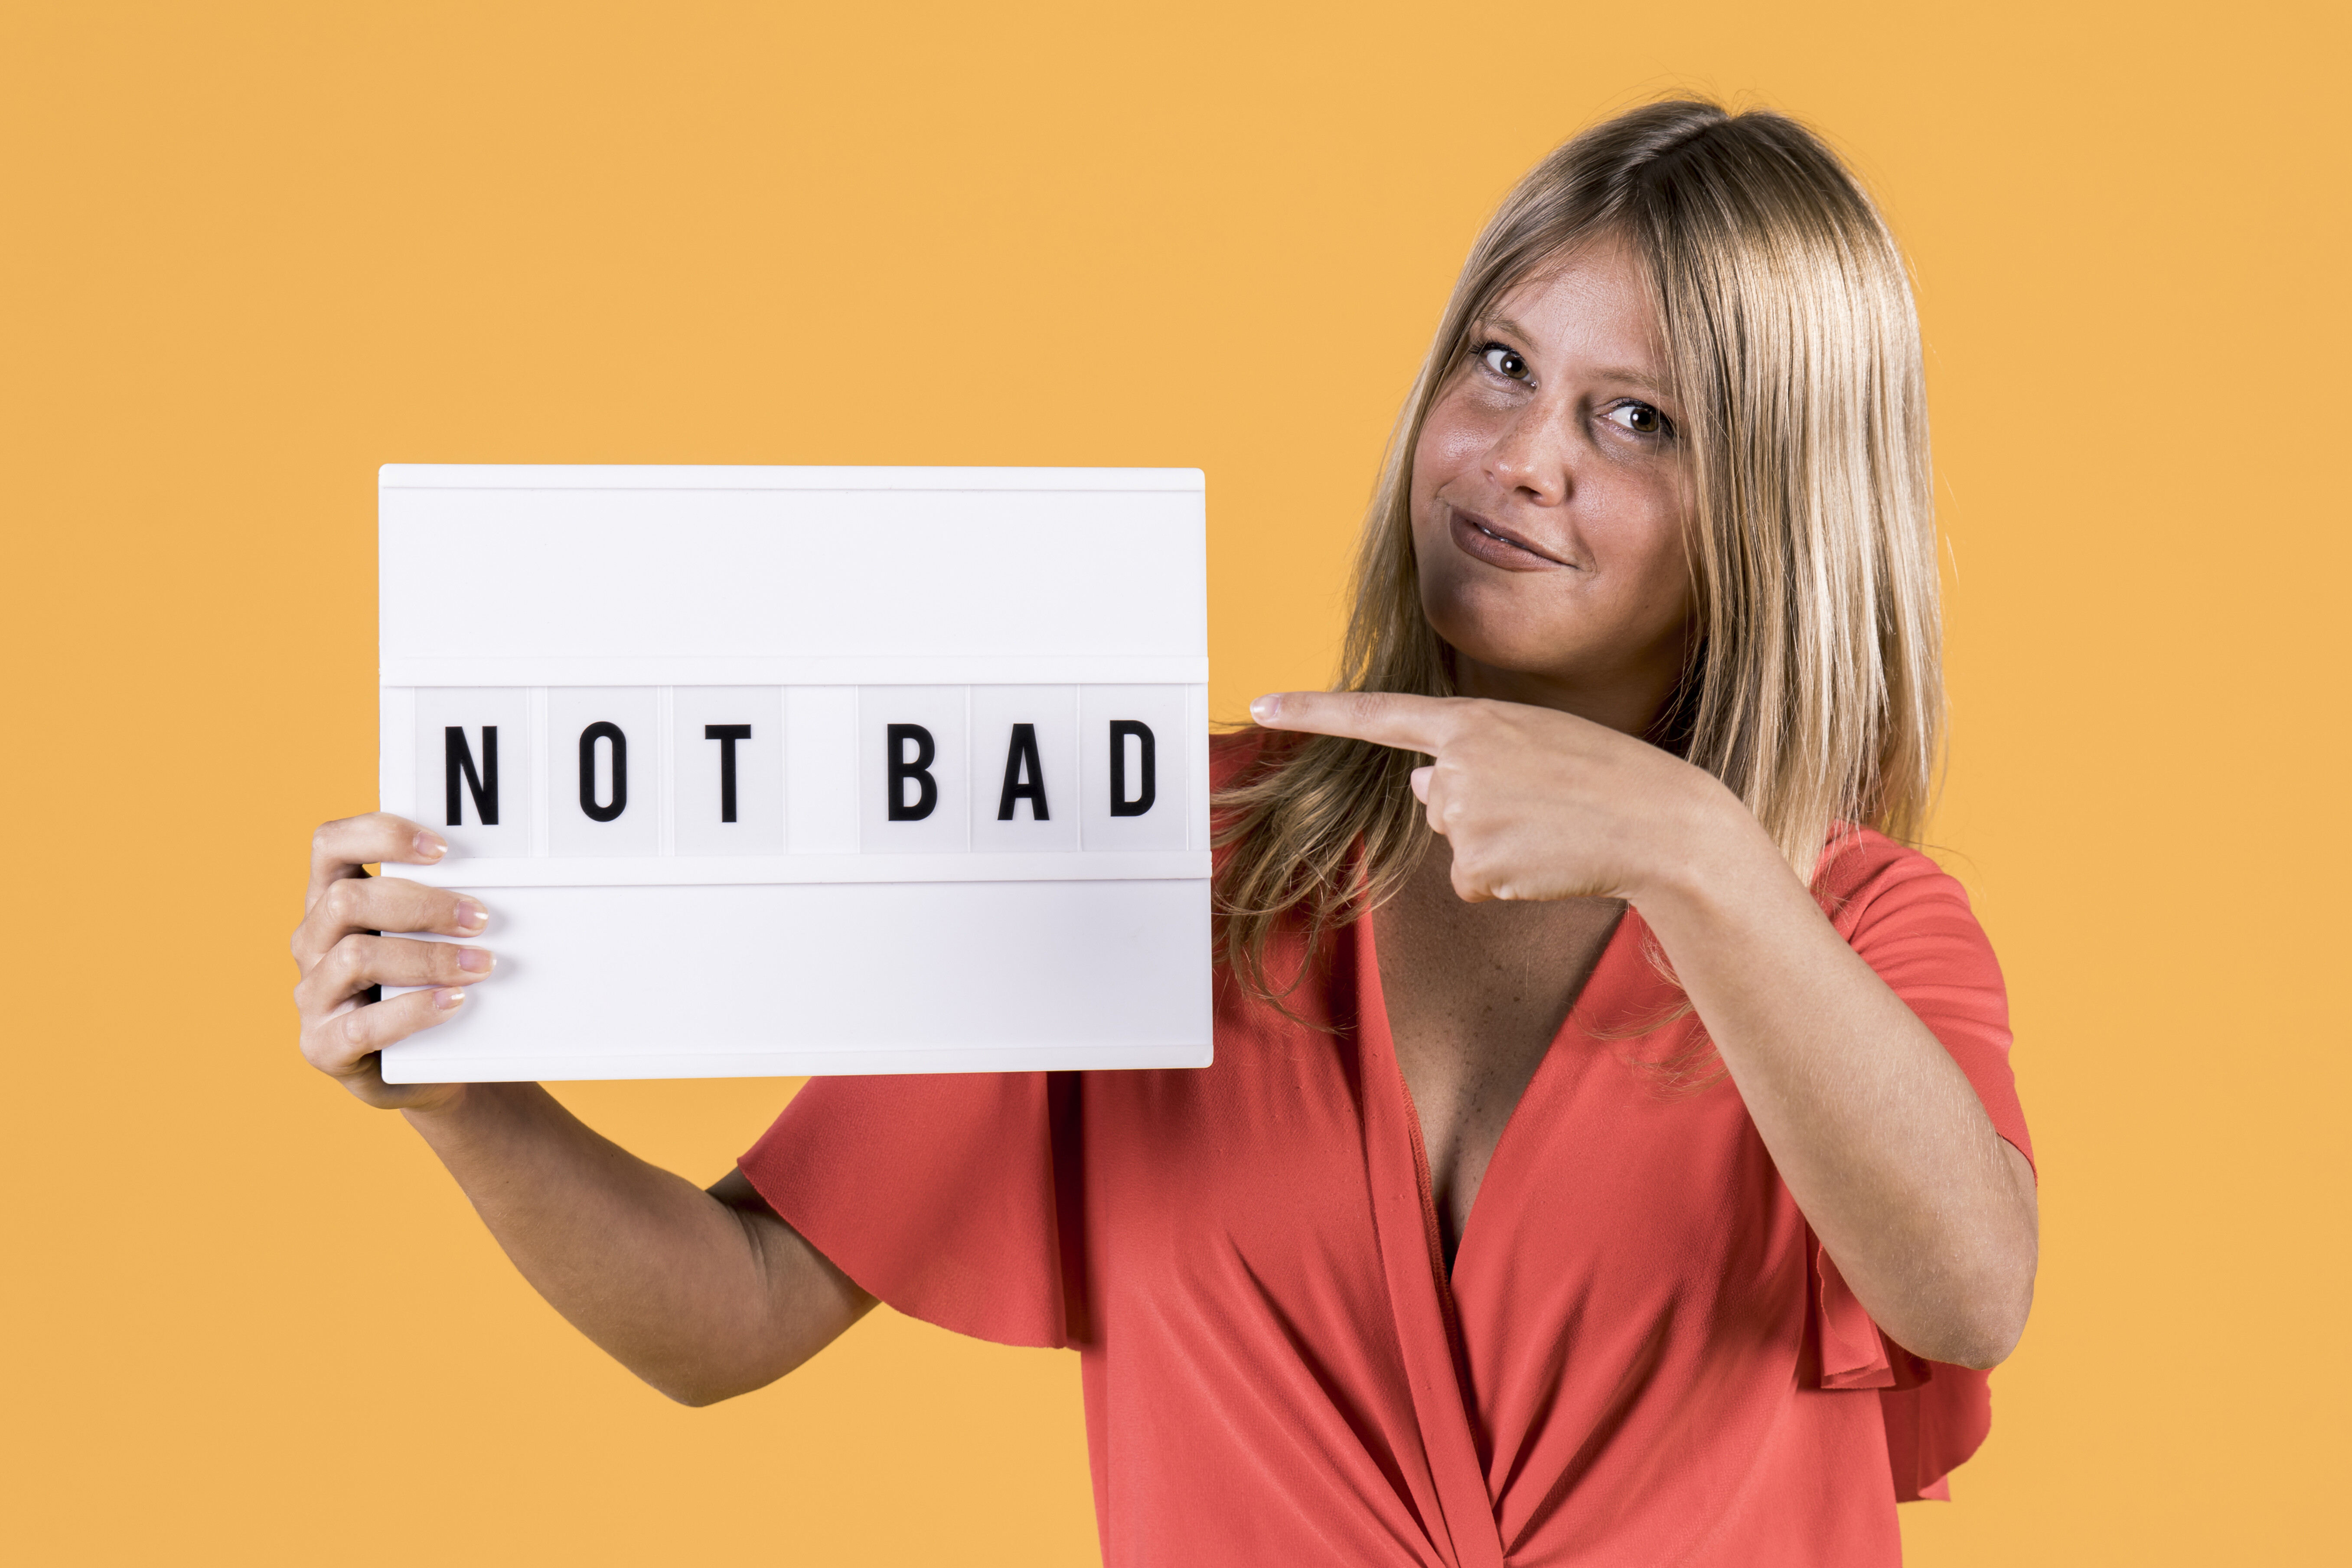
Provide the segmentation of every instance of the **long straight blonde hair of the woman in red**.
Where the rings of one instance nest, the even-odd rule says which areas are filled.
[[[1454,696],[1454,654],[1421,609],[1414,447],[1472,324],[1599,237],[1628,242],[1656,292],[1693,501],[1691,654],[1649,738],[1722,778],[1806,882],[1839,823],[1912,839],[1943,731],[1919,322],[1870,197],[1769,110],[1635,108],[1503,200],[1390,437],[1338,689]],[[1430,832],[1406,785],[1418,762],[1270,738],[1218,792],[1223,950],[1254,990],[1287,990],[1265,973],[1284,919],[1303,917],[1312,952],[1411,872]]]

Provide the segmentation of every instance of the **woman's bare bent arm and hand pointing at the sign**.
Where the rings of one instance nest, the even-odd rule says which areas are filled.
[[[1879,1328],[1959,1366],[2016,1347],[2039,1251],[2032,1168],[1719,780],[1519,703],[1291,691],[1251,715],[1435,757],[1414,792],[1463,898],[1632,903]]]

